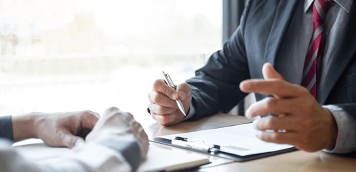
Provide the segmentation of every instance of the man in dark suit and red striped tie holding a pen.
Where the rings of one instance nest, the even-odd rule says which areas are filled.
[[[250,0],[230,40],[195,77],[177,91],[154,83],[150,113],[172,125],[229,112],[255,92],[246,116],[277,115],[255,122],[258,138],[305,151],[354,151],[355,15],[352,0]]]

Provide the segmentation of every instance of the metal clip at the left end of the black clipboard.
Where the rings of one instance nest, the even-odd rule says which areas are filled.
[[[219,145],[208,145],[202,140],[190,141],[188,138],[176,137],[172,140],[172,145],[181,147],[188,150],[194,150],[199,152],[205,152],[209,154],[215,154],[220,152]]]

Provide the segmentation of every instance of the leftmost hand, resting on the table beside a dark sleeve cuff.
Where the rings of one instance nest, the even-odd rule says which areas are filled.
[[[13,116],[14,140],[40,138],[50,146],[72,148],[77,141],[84,142],[81,137],[76,136],[78,132],[83,129],[91,130],[98,118],[99,115],[92,111]]]

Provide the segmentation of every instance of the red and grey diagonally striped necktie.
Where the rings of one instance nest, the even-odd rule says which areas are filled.
[[[324,46],[324,41],[321,39],[324,31],[324,20],[329,5],[333,2],[333,0],[315,0],[313,5],[314,32],[312,39],[310,39],[307,57],[305,57],[302,86],[307,88],[314,98],[316,98],[316,84],[318,83],[316,62],[322,56]]]

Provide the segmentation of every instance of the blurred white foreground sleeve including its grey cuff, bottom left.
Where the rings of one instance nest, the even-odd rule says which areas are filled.
[[[140,149],[135,139],[117,135],[108,139],[75,146],[70,154],[39,162],[26,160],[11,147],[11,144],[6,145],[0,141],[1,172],[135,171],[141,161]],[[112,143],[107,144],[106,141]]]

